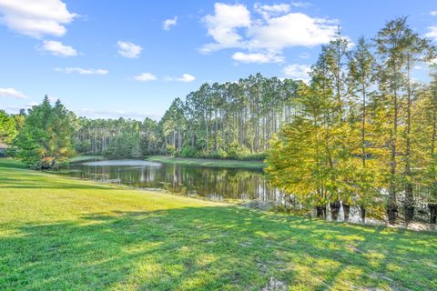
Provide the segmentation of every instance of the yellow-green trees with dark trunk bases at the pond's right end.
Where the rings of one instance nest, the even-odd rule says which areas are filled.
[[[301,114],[269,150],[270,179],[320,217],[327,206],[348,217],[354,205],[361,216],[385,210],[391,224],[400,213],[410,222],[425,202],[435,223],[437,74],[429,84],[412,78],[435,48],[405,17],[350,47],[340,33],[322,47],[298,88]]]

